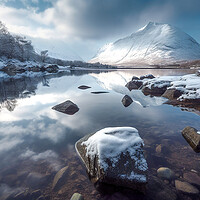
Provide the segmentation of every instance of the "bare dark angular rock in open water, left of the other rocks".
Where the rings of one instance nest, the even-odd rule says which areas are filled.
[[[54,106],[52,109],[68,115],[73,115],[79,111],[78,106],[69,100]]]

